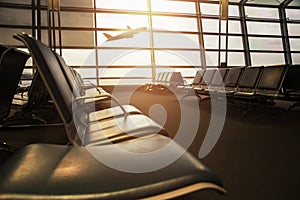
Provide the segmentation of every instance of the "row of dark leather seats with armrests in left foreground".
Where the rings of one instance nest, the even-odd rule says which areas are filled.
[[[221,180],[172,141],[159,124],[108,93],[86,96],[82,81],[61,56],[25,33],[14,37],[29,49],[68,142],[35,138],[33,144],[19,148],[0,165],[0,199],[170,199],[201,190],[226,192]],[[103,98],[118,106],[90,109]],[[23,135],[33,130],[26,129]],[[51,141],[57,134],[52,130],[45,135],[47,131],[51,132],[50,126],[37,134],[39,139]],[[122,156],[124,152],[131,157]],[[176,154],[179,157],[168,162]],[[114,168],[97,156],[118,164]],[[155,167],[166,162],[165,167]],[[118,169],[122,167],[125,171]]]

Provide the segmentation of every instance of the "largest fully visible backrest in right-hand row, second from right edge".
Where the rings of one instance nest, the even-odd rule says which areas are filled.
[[[282,87],[287,69],[287,65],[265,66],[257,85],[257,93],[277,95]]]

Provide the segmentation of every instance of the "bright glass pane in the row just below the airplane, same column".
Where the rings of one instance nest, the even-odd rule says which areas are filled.
[[[98,51],[100,66],[147,66],[151,65],[149,50],[101,49]]]

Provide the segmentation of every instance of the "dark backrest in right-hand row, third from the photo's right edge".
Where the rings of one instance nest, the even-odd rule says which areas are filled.
[[[246,67],[238,83],[238,90],[255,89],[263,66]]]

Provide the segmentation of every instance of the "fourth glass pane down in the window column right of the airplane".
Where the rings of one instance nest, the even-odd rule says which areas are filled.
[[[156,65],[200,66],[200,51],[155,51]]]

